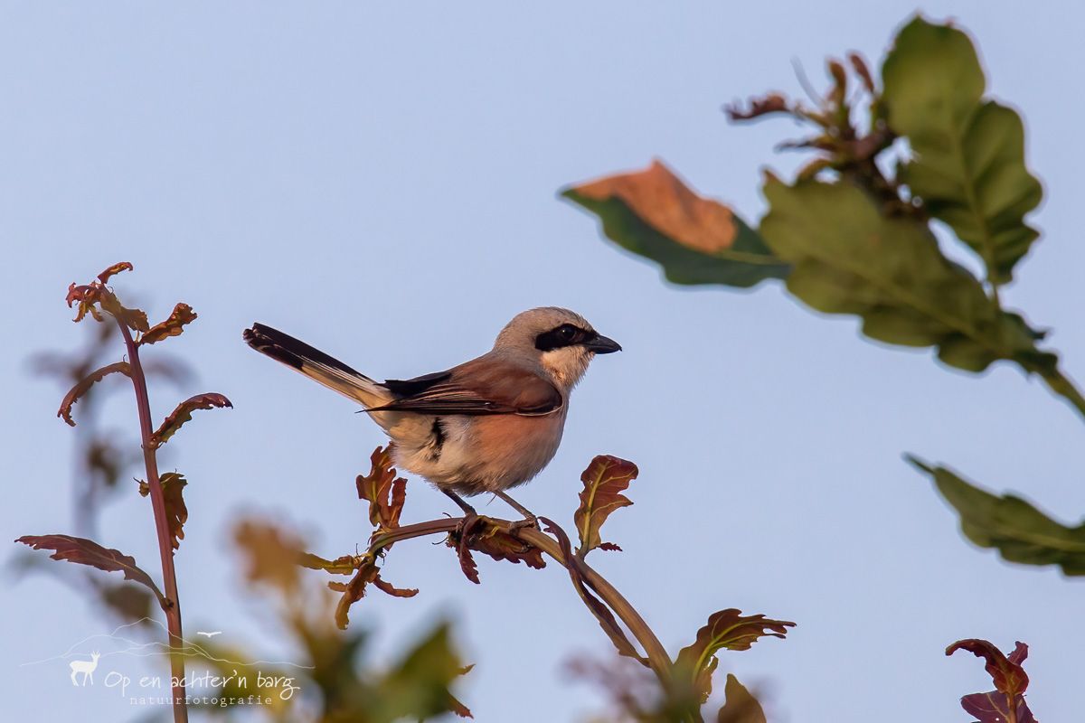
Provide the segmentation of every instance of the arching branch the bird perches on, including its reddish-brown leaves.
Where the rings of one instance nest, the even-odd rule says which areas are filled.
[[[612,542],[602,541],[600,527],[615,509],[633,504],[623,494],[638,475],[637,466],[631,462],[600,455],[584,470],[580,476],[584,490],[574,516],[580,543],[575,552],[565,530],[546,517],[539,518],[542,530],[475,514],[400,526],[407,481],[396,477],[391,449],[378,448],[371,463],[370,473],[359,475],[357,480],[358,496],[369,503],[369,520],[375,528],[366,552],[335,559],[305,553],[298,559],[304,567],[331,574],[353,576],[346,583],[328,583],[329,588],[342,593],[335,611],[340,628],[347,627],[350,606],[361,599],[370,583],[396,597],[411,597],[418,593],[417,590],[395,588],[381,577],[384,566],[378,563],[397,542],[444,535],[447,545],[456,551],[464,576],[475,583],[480,582],[478,568],[472,552],[484,553],[497,560],[522,561],[534,568],[545,567],[546,556],[569,572],[577,595],[598,620],[618,655],[633,658],[652,671],[659,681],[661,710],[669,711],[664,715],[665,720],[695,723],[703,720],[701,707],[712,692],[712,674],[718,664],[716,654],[724,648],[744,650],[765,635],[783,637],[787,628],[794,624],[761,615],[743,616],[739,610],[728,608],[710,616],[707,624],[698,631],[695,641],[682,648],[676,659],[672,659],[636,608],[585,560],[588,553],[596,548],[621,550]]]

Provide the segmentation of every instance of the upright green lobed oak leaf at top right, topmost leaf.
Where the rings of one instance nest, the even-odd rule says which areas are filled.
[[[1044,192],[1024,162],[1024,126],[1012,109],[984,100],[971,40],[957,28],[916,17],[882,66],[889,125],[915,157],[901,180],[987,267],[1011,280],[1038,232],[1024,222]]]

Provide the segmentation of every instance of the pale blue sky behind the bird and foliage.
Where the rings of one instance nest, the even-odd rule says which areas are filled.
[[[827,53],[856,48],[877,63],[915,10],[834,4],[0,4],[3,537],[71,530],[73,434],[53,416],[60,391],[31,378],[26,358],[78,346],[64,289],[108,263],[136,264],[117,288],[153,317],[179,299],[200,312],[169,343],[200,372],[184,392],[235,405],[206,413],[165,456],[191,480],[177,556],[189,628],[214,621],[269,645],[266,615],[253,615],[263,608],[243,602],[221,552],[230,521],[266,511],[309,531],[318,552],[353,551],[369,533],[353,479],[381,437],[341,398],[248,350],[241,330],[263,321],[404,377],[484,351],[524,308],[567,306],[625,352],[596,362],[561,451],[519,499],[569,520],[593,454],[636,461],[636,505],[608,524],[625,553],[596,564],[672,651],[719,608],[794,620],[789,640],[728,654],[720,670],[769,689],[779,720],[903,723],[968,720],[958,697],[990,687],[980,661],[943,656],[948,643],[1021,640],[1035,713],[1072,720],[1082,583],[972,547],[899,455],[944,461],[1073,521],[1085,511],[1081,419],[1012,369],[978,378],[879,347],[774,284],[666,286],[556,197],[660,156],[756,220],[758,169],[792,167],[771,147],[795,129],[729,127],[719,106],[796,91],[793,57],[816,83]],[[1006,298],[1055,328],[1085,379],[1082,11],[923,8],[969,28],[993,92],[1025,109],[1045,237]],[[156,413],[177,393],[161,391]],[[127,396],[108,412],[131,428]],[[447,507],[412,483],[405,518]],[[154,567],[144,500],[128,494],[102,522],[102,542]],[[563,662],[610,655],[609,643],[564,573],[492,561],[481,573],[478,588],[448,551],[399,545],[388,578],[422,593],[374,593],[353,619],[394,649],[451,616],[478,663],[462,697],[481,721],[598,706]],[[66,666],[17,667],[104,632],[67,588],[38,577],[0,596],[5,719],[140,712],[73,688]]]

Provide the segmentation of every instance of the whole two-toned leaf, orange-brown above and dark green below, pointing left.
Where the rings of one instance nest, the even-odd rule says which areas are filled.
[[[562,196],[598,216],[607,237],[658,262],[674,283],[745,288],[787,275],[787,264],[753,229],[658,160],[642,171],[569,188]]]

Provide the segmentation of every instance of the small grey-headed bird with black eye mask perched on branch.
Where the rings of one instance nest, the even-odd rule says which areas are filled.
[[[506,490],[535,478],[561,443],[573,387],[597,354],[621,351],[580,314],[560,307],[523,311],[494,347],[443,372],[376,382],[334,357],[260,323],[243,332],[250,347],[362,405],[393,442],[396,465],[448,495],[492,493],[536,516]]]

